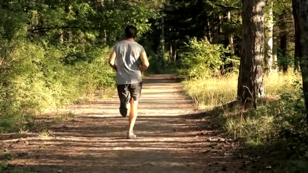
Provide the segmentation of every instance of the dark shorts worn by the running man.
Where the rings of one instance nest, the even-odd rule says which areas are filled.
[[[121,106],[125,106],[130,103],[131,98],[135,101],[141,96],[142,82],[133,84],[118,84],[118,94],[121,102]]]

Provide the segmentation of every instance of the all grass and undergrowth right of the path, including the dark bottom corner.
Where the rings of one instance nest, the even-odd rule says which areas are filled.
[[[280,152],[287,153],[289,161],[278,166],[277,172],[308,170],[308,125],[298,74],[266,76],[266,97],[259,99],[256,110],[244,110],[237,104],[228,106],[236,100],[237,74],[194,78],[183,83],[187,95],[200,109],[223,110],[214,119],[229,138],[256,148],[280,146]]]

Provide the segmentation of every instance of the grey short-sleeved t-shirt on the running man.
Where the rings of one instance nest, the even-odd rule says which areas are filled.
[[[117,84],[133,84],[142,81],[138,59],[144,49],[135,41],[123,40],[114,45],[117,54]]]

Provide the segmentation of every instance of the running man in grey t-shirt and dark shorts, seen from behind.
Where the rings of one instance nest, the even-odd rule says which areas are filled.
[[[137,118],[138,99],[141,95],[141,71],[145,71],[149,62],[141,45],[134,41],[137,28],[129,25],[125,28],[126,39],[113,47],[109,58],[109,65],[117,71],[117,88],[120,98],[120,113],[123,117],[129,114],[129,131],[127,138],[134,139],[134,125]],[[138,59],[142,64],[139,65]],[[115,63],[117,59],[117,63]]]

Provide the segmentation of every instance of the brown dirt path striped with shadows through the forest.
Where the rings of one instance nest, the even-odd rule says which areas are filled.
[[[48,138],[2,141],[15,155],[10,165],[38,172],[252,172],[234,143],[197,125],[202,115],[171,75],[144,83],[138,139],[125,139],[128,118],[120,117],[117,97],[96,99],[69,107],[76,116],[51,125]]]

